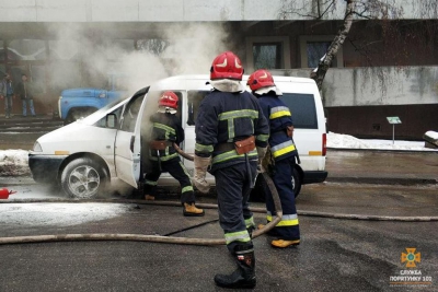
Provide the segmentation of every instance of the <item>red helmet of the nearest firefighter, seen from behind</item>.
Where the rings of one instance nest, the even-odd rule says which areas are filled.
[[[232,51],[226,51],[215,58],[210,69],[210,80],[233,79],[242,80],[243,66]]]

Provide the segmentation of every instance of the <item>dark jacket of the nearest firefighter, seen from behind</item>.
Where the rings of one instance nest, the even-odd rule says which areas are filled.
[[[195,154],[212,156],[211,173],[218,168],[245,162],[245,154],[234,149],[220,150],[220,145],[255,137],[255,145],[265,148],[269,138],[269,126],[257,100],[249,92],[220,92],[214,90],[200,103],[196,119]],[[257,151],[246,154],[257,160]]]

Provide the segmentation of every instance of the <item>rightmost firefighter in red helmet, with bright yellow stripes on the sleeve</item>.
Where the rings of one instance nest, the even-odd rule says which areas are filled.
[[[278,238],[270,244],[274,247],[288,247],[300,244],[300,227],[295,205],[295,194],[292,186],[292,172],[298,155],[292,135],[293,124],[289,108],[279,98],[281,92],[274,83],[273,75],[267,70],[257,70],[247,80],[253,94],[258,98],[263,114],[269,121],[269,148],[265,157],[268,166],[265,168],[273,177],[281,201],[281,221],[270,231],[269,234]],[[269,189],[264,184],[265,194]],[[267,222],[275,215],[275,207],[272,196],[266,196]],[[263,226],[263,225],[262,225]]]

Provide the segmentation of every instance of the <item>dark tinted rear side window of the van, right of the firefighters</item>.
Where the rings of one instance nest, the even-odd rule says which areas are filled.
[[[289,107],[295,128],[318,129],[313,94],[284,93],[280,100]]]

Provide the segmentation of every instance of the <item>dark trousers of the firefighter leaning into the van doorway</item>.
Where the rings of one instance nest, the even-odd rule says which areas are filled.
[[[161,162],[161,172],[158,162],[152,162],[152,172],[145,176],[145,195],[155,196],[157,182],[161,173],[170,173],[181,185],[181,202],[195,202],[191,177],[180,157]]]

